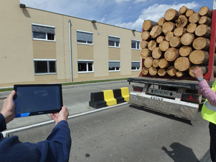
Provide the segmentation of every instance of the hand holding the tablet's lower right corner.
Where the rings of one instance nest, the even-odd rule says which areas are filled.
[[[68,112],[68,108],[66,106],[62,106],[62,109],[59,111],[59,113],[50,114],[50,116],[55,121],[55,124],[57,124],[61,120],[67,121],[68,115],[69,115],[69,112]]]

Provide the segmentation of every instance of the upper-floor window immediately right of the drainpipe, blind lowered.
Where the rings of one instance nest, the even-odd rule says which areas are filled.
[[[92,44],[93,43],[93,33],[77,31],[77,43]]]

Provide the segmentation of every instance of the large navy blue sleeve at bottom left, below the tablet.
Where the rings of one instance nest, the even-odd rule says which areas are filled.
[[[22,143],[17,136],[0,138],[1,160],[6,161],[67,162],[70,148],[70,129],[66,121],[60,121],[48,138],[39,143]]]

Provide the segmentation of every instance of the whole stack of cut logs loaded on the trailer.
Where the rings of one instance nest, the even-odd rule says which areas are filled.
[[[192,71],[196,66],[206,74],[211,16],[212,11],[206,6],[200,8],[199,13],[182,6],[179,11],[168,9],[157,23],[145,20],[141,34],[143,75],[194,77]]]

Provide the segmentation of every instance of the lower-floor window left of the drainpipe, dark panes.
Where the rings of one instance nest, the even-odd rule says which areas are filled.
[[[56,60],[34,60],[35,74],[56,74]]]

